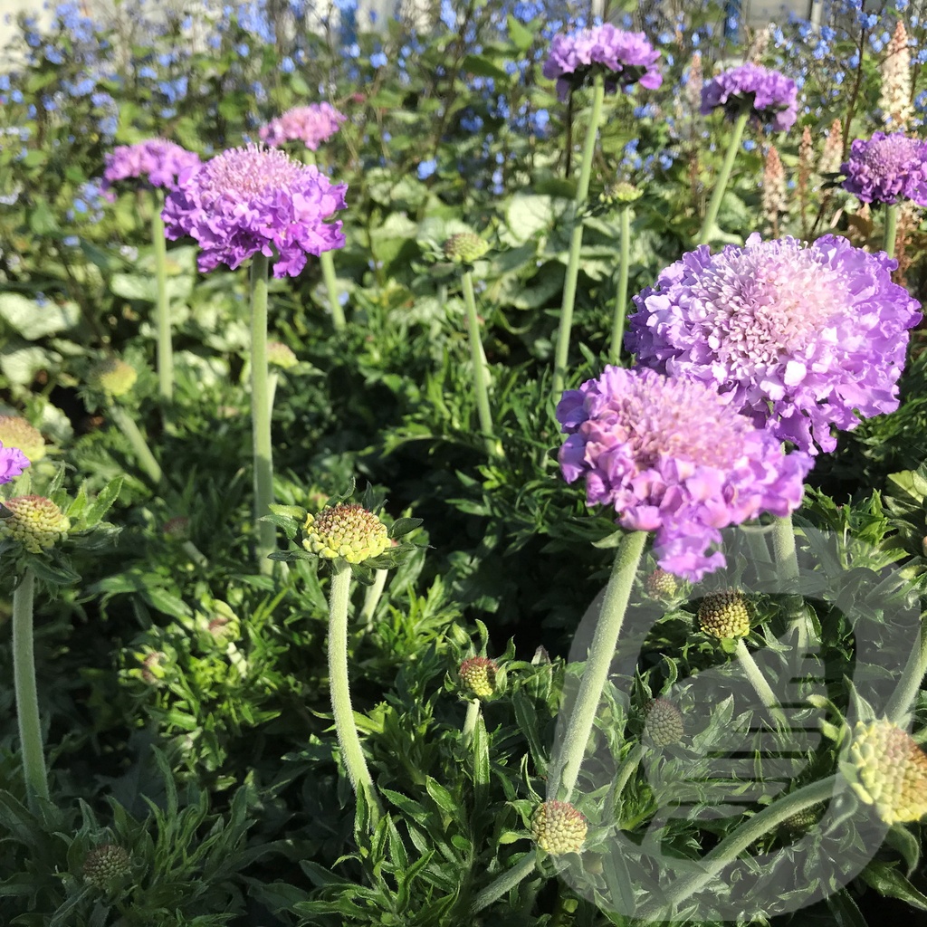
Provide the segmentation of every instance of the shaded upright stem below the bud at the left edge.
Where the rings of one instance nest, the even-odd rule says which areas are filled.
[[[35,656],[32,650],[32,603],[35,576],[27,569],[13,592],[13,679],[16,688],[16,714],[26,794],[34,809],[35,799],[48,800],[48,774],[45,771],[39,698],[35,685]]]

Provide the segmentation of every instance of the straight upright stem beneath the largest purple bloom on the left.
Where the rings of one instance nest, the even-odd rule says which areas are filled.
[[[258,530],[258,568],[273,570],[268,556],[276,546],[270,522],[259,521],[273,504],[273,448],[267,370],[267,266],[262,254],[251,259],[251,436],[254,454],[254,518]]]

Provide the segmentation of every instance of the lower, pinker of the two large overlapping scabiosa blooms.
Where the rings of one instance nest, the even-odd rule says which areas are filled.
[[[586,477],[588,505],[611,505],[621,527],[655,531],[657,564],[698,582],[725,563],[708,553],[719,529],[802,500],[811,458],[781,442],[711,386],[654,370],[606,367],[567,390],[557,421],[568,483]]]

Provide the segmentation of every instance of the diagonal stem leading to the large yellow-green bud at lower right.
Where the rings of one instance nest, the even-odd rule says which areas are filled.
[[[763,834],[778,827],[783,820],[791,818],[799,811],[826,802],[840,788],[840,784],[841,777],[828,776],[827,779],[811,782],[764,808],[753,818],[730,832],[710,853],[703,857],[699,866],[701,871],[681,878],[679,883],[667,892],[667,895],[661,897],[659,901],[645,904],[640,910],[634,912],[634,916],[641,921],[669,920],[670,908],[678,907],[687,898],[704,888],[717,876],[718,872],[733,862],[750,844],[755,843]],[[664,914],[667,915],[666,918]]]

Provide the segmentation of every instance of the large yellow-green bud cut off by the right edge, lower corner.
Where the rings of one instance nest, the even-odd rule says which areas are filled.
[[[927,814],[927,755],[907,731],[884,719],[857,721],[849,759],[853,790],[886,824]]]

